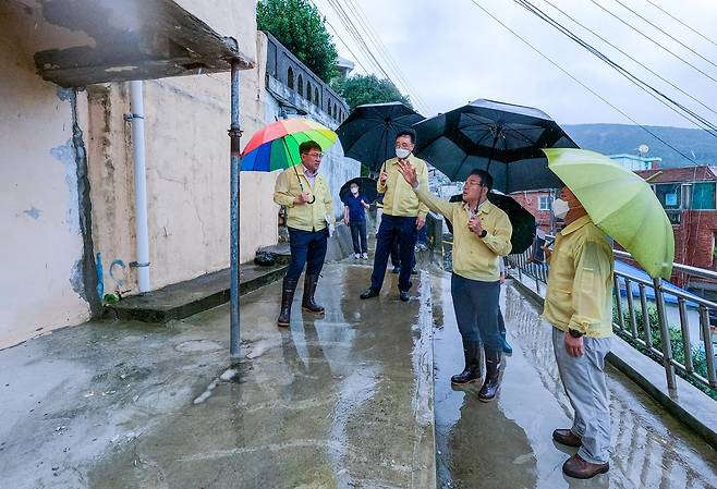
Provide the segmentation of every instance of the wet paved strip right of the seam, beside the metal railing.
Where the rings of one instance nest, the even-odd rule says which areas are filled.
[[[434,279],[438,487],[461,489],[717,487],[717,453],[678,424],[619,371],[610,368],[611,470],[593,480],[562,475],[574,452],[552,442],[569,427],[569,402],[558,378],[550,329],[537,307],[503,288],[503,314],[513,355],[498,402],[477,401],[477,387],[454,391],[462,368],[450,279]],[[510,281],[509,281],[510,283]]]

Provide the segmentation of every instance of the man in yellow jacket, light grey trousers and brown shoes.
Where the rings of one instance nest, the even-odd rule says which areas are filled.
[[[612,246],[580,200],[564,187],[552,204],[566,228],[550,265],[543,317],[552,325],[552,346],[560,379],[575,411],[569,429],[552,438],[579,448],[562,466],[570,477],[588,479],[609,470],[610,402],[605,356],[612,335]]]

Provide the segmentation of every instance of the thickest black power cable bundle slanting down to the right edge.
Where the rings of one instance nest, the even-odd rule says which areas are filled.
[[[682,103],[673,100],[663,91],[658,90],[657,88],[653,87],[649,85],[647,82],[641,80],[640,77],[635,76],[632,74],[630,71],[625,70],[623,66],[620,64],[616,63],[612,61],[610,58],[605,56],[603,52],[600,52],[598,49],[594,48],[583,39],[581,39],[579,36],[573,34],[570,29],[564,27],[562,24],[559,22],[555,21],[552,17],[550,17],[548,14],[543,12],[540,9],[535,7],[533,3],[531,3],[528,0],[514,0],[515,3],[523,7],[526,9],[528,12],[533,13],[536,15],[538,19],[545,21],[558,32],[561,34],[566,35],[573,41],[575,41],[578,45],[581,47],[585,48],[588,52],[597,57],[599,60],[604,61],[606,64],[608,64],[610,68],[616,70],[618,73],[620,73],[622,76],[628,78],[631,83],[636,85],[639,88],[641,88],[643,91],[651,95],[653,98],[655,98],[657,101],[676,112],[678,115],[682,117],[686,121],[693,123],[700,129],[705,130],[708,134],[717,138],[717,127],[707,119],[703,118],[702,115],[697,114],[696,112],[692,111],[691,109],[684,107]],[[684,112],[684,113],[683,113]],[[695,120],[697,122],[695,122]]]

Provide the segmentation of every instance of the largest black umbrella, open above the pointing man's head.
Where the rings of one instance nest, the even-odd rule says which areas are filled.
[[[450,180],[488,170],[495,188],[507,194],[560,186],[540,149],[578,147],[542,110],[493,100],[475,100],[414,129],[416,156]]]

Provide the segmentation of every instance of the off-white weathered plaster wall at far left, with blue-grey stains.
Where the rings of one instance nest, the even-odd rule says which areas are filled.
[[[0,347],[89,317],[70,93],[35,74],[34,24],[0,3]]]

